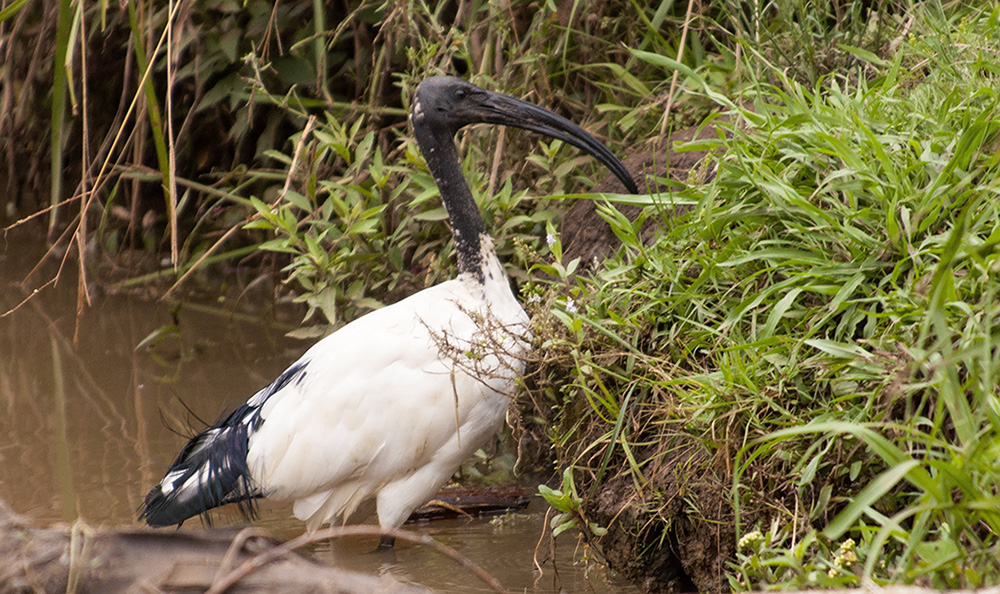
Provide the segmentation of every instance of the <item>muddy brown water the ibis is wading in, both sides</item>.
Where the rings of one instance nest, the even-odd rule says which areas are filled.
[[[27,294],[16,283],[34,256],[0,245],[0,313]],[[44,282],[46,278],[40,277]],[[97,297],[76,328],[76,287],[62,282],[0,318],[0,498],[38,525],[83,519],[93,526],[139,525],[143,496],[163,475],[184,438],[243,402],[309,346],[284,336],[289,323],[270,314],[233,313],[228,303],[171,307],[132,297]],[[241,304],[244,312],[246,304]],[[261,306],[266,312],[269,306]],[[252,308],[251,308],[252,310]],[[139,347],[139,348],[137,348]],[[190,410],[188,410],[190,409]],[[410,525],[468,556],[514,592],[638,592],[580,545],[561,535],[554,562],[539,547],[545,506],[502,519],[456,519]],[[216,525],[244,523],[233,510]],[[266,503],[255,525],[282,539],[302,523],[290,506]],[[200,529],[189,521],[182,530]],[[374,554],[374,539],[327,542],[311,554],[356,571],[384,574],[436,592],[488,591],[471,573],[427,548],[397,545]]]

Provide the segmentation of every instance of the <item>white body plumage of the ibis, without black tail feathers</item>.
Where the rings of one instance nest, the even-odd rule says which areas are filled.
[[[302,380],[268,398],[250,436],[248,466],[268,496],[294,499],[295,516],[315,528],[377,495],[379,522],[399,526],[496,431],[523,369],[527,343],[515,337],[528,317],[490,256],[487,282],[461,275],[306,352]],[[442,356],[444,342],[452,352]],[[508,353],[485,348],[497,343]]]

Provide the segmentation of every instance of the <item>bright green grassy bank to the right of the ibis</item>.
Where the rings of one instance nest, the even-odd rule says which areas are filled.
[[[813,83],[748,58],[738,101],[687,70],[716,177],[650,197],[688,207],[652,245],[604,209],[623,247],[551,290],[578,524],[659,588],[1000,582],[997,12],[909,17]]]

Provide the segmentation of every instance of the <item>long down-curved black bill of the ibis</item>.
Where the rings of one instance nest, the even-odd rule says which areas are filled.
[[[481,101],[475,114],[472,115],[477,121],[484,124],[500,124],[503,126],[513,126],[531,130],[538,134],[543,134],[550,138],[557,138],[567,144],[586,151],[595,159],[600,161],[605,167],[611,170],[625,188],[632,194],[638,194],[639,189],[625,165],[597,140],[589,132],[577,126],[566,118],[552,113],[551,111],[539,107],[533,103],[523,101],[504,95],[485,91],[486,98]]]

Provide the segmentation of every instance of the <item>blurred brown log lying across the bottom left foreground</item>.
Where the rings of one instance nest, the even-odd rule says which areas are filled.
[[[0,592],[204,592],[217,576],[277,546],[236,530],[169,532],[35,528],[0,501]],[[243,577],[228,592],[411,594],[426,589],[390,575],[322,565],[295,553]]]

